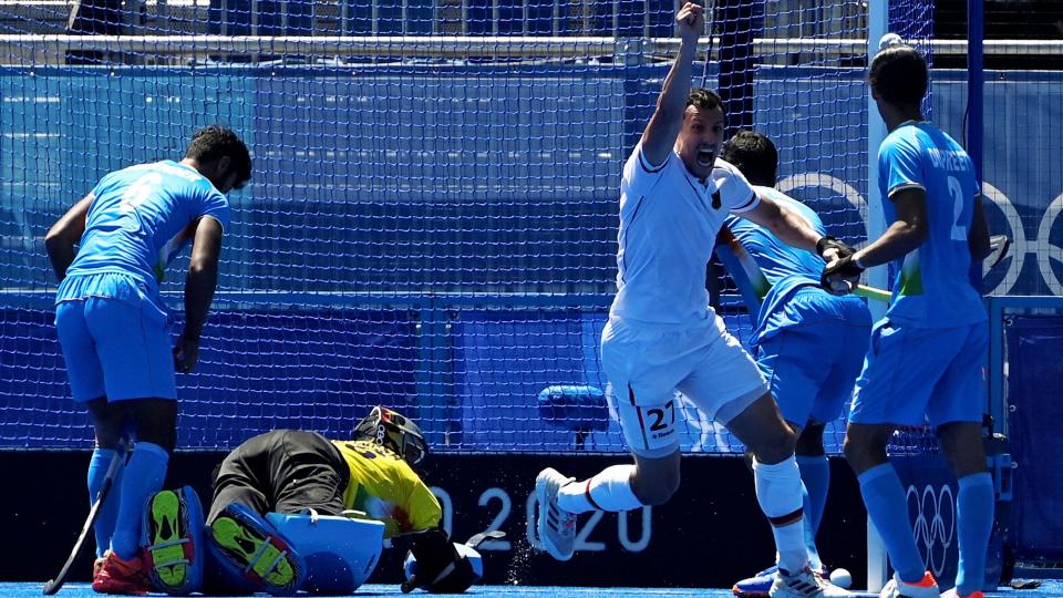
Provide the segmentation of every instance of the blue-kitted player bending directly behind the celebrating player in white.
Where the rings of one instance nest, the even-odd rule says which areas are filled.
[[[723,147],[721,157],[736,166],[762,197],[799,214],[821,235],[826,228],[811,208],[774,188],[778,152],[766,136],[741,131]],[[823,571],[815,534],[830,486],[830,467],[823,447],[827,422],[842,414],[853,398],[853,385],[867,352],[871,315],[863,299],[836,297],[819,286],[823,260],[778,239],[767,228],[730,217],[725,226],[753,259],[747,275],[763,296],[751,348],[783,417],[795,430],[796,458],[805,487],[805,542],[808,564]],[[741,259],[741,258],[740,258]],[[752,306],[756,310],[757,306]],[[740,581],[734,594],[767,596],[774,567]]]

